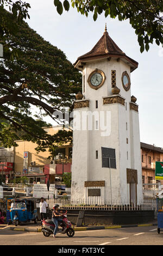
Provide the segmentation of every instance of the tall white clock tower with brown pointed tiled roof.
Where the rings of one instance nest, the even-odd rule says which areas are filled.
[[[130,91],[130,72],[138,63],[105,26],[102,38],[74,66],[83,72],[83,86],[73,110],[71,202],[140,203],[139,113]]]

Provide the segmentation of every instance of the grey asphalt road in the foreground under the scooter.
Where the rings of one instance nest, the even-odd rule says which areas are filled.
[[[57,238],[42,233],[0,230],[1,245],[162,245],[163,230],[157,227],[134,227],[76,231],[74,237],[58,234]]]

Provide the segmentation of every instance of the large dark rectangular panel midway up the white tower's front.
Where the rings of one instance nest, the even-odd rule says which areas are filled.
[[[115,149],[101,148],[102,150],[102,167],[116,169]]]

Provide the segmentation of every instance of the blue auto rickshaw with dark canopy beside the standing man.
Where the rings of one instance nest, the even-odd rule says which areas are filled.
[[[20,197],[11,200],[10,215],[17,226],[21,222],[34,221],[37,223],[37,210],[34,197]]]

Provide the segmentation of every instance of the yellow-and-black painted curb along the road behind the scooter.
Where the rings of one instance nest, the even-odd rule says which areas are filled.
[[[135,228],[135,227],[150,227],[157,226],[157,223],[149,223],[149,224],[131,224],[131,225],[114,225],[114,226],[97,226],[97,227],[75,227],[74,231],[86,231],[86,230],[100,230],[100,229],[116,229],[116,228]],[[25,231],[25,232],[41,232],[41,228],[30,229],[30,228],[22,228],[22,227],[4,227],[1,229],[9,229],[13,231]]]

